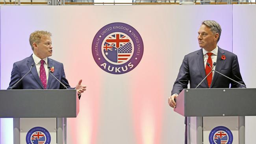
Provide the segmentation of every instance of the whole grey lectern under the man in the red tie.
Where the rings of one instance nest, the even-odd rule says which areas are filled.
[[[184,89],[174,111],[187,116],[188,144],[245,144],[245,116],[256,116],[255,103],[256,89]]]

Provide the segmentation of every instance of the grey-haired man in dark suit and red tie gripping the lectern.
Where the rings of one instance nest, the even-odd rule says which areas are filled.
[[[191,89],[197,85],[211,72],[211,68],[221,72],[239,83],[245,84],[240,74],[237,56],[232,52],[221,49],[217,43],[221,36],[221,26],[213,20],[205,20],[198,31],[198,43],[200,50],[185,55],[178,77],[173,85],[168,103],[176,107],[174,101],[178,94],[187,89],[189,83]],[[210,64],[210,66],[207,65]],[[213,67],[213,63],[216,66]],[[230,79],[212,72],[198,88],[243,88],[242,85]],[[186,119],[185,119],[186,124]],[[187,144],[187,124],[185,131],[185,144]]]

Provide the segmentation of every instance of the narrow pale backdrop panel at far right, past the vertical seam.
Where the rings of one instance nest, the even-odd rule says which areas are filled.
[[[255,54],[256,54],[256,20],[250,17],[250,13],[256,13],[255,5],[233,6],[233,52],[237,54],[241,74],[247,88],[256,87]],[[256,117],[245,117],[245,143],[255,143]]]

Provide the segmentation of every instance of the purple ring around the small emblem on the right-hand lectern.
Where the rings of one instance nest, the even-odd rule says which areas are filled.
[[[227,134],[228,134],[228,144],[232,144],[233,142],[233,134],[232,132],[230,131],[230,129],[228,129],[228,127],[224,127],[224,126],[217,126],[215,128],[213,128],[209,134],[209,142],[210,144],[212,142],[214,142],[213,140],[213,136],[214,134],[217,132],[217,131],[225,131]],[[215,142],[214,142],[215,144]]]

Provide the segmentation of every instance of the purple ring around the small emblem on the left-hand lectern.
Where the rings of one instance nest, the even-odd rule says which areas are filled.
[[[49,133],[49,131],[47,131],[47,129],[43,128],[43,127],[33,127],[32,129],[30,129],[26,135],[26,143],[27,144],[32,144],[31,142],[31,135],[35,132],[35,131],[41,131],[42,133],[45,134],[46,137],[46,141],[45,144],[50,144],[51,143],[51,135]]]

